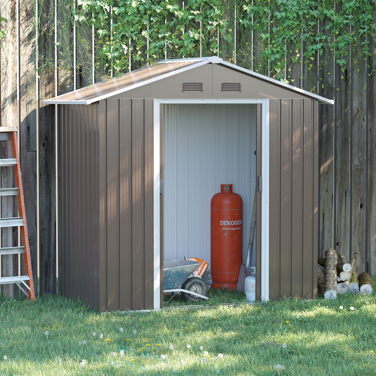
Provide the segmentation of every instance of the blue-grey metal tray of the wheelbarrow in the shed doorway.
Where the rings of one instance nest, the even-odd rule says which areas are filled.
[[[198,261],[193,260],[165,260],[163,262],[163,290],[179,289],[199,265]]]

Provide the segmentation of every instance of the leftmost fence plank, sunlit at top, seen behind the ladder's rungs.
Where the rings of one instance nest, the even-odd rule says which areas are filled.
[[[6,18],[5,38],[1,41],[1,126],[18,126],[17,107],[17,22],[16,1],[2,0],[0,2],[1,17]],[[1,158],[12,158],[12,149],[9,141],[1,142]],[[12,167],[1,168],[1,186],[14,186]],[[15,197],[1,198],[1,215],[3,218],[17,216],[17,202]],[[16,214],[16,215],[15,215]],[[1,246],[14,247],[17,245],[17,227],[5,227],[1,229]],[[18,275],[18,255],[6,255],[1,257],[2,277]],[[7,297],[17,296],[18,287],[14,284],[2,285],[2,295]]]

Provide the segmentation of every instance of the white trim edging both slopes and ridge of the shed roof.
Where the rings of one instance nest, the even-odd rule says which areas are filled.
[[[59,100],[58,99],[59,96],[58,96],[58,97],[54,97],[54,98],[51,98],[51,99],[44,100],[43,103],[44,104],[55,104],[55,105],[56,104],[60,104],[60,105],[65,105],[65,104],[68,104],[68,105],[89,105],[91,103],[98,102],[99,100],[106,99],[108,97],[113,97],[113,96],[116,96],[116,95],[121,94],[123,92],[138,88],[138,87],[143,86],[143,85],[147,85],[148,83],[152,83],[152,82],[159,81],[159,80],[162,80],[162,79],[167,78],[167,77],[174,76],[175,74],[179,74],[179,73],[182,73],[184,71],[200,67],[201,65],[204,65],[204,64],[212,63],[212,64],[225,65],[225,66],[230,67],[232,69],[246,73],[250,76],[257,77],[261,80],[273,83],[274,85],[282,86],[286,89],[289,89],[289,90],[292,90],[292,91],[295,91],[295,92],[299,92],[300,94],[304,94],[307,97],[317,99],[320,103],[327,103],[327,104],[330,104],[330,105],[334,105],[334,100],[318,96],[317,94],[313,94],[309,91],[306,91],[306,90],[303,90],[303,89],[300,89],[300,88],[296,88],[295,86],[288,85],[287,83],[274,80],[273,78],[270,78],[270,77],[267,77],[267,76],[263,76],[262,74],[255,73],[255,72],[253,72],[249,69],[238,67],[237,65],[228,63],[228,62],[224,61],[223,59],[218,58],[217,56],[212,56],[212,57],[209,57],[209,58],[161,60],[161,61],[158,61],[156,64],[165,64],[165,63],[171,63],[171,62],[172,63],[173,62],[189,62],[189,61],[192,61],[192,62],[197,61],[197,63],[192,64],[192,65],[188,65],[187,67],[183,67],[183,68],[174,70],[172,72],[167,72],[165,74],[161,74],[158,77],[153,77],[149,80],[138,82],[138,83],[135,83],[133,85],[129,85],[126,88],[115,90],[115,91],[112,91],[109,94],[103,94],[102,96],[94,97],[92,99],[88,99],[88,100]],[[79,90],[82,90],[82,89],[79,89]]]

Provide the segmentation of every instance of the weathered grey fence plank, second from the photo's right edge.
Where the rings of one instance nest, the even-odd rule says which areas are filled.
[[[360,44],[360,41],[359,41]],[[357,56],[354,56],[352,103],[352,244],[351,253],[358,252],[359,261],[356,264],[356,273],[367,270],[365,263],[365,118],[367,116],[367,62],[361,54],[361,47]]]

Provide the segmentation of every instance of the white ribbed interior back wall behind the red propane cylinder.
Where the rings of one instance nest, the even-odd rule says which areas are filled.
[[[245,261],[255,150],[256,105],[164,106],[165,260],[188,256],[210,262],[210,201],[221,184],[232,183],[243,199]]]

